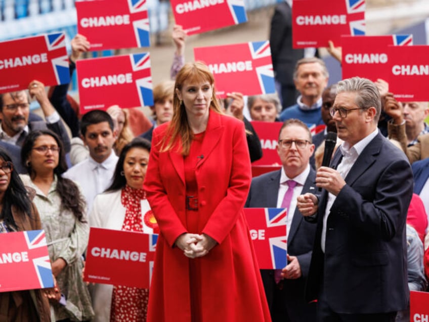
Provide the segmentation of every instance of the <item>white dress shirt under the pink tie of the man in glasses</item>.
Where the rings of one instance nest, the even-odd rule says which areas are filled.
[[[277,208],[282,208],[281,204],[283,202],[284,195],[286,194],[286,191],[288,189],[286,181],[293,180],[297,183],[296,186],[293,188],[292,199],[290,200],[290,206],[289,206],[289,209],[287,210],[286,238],[289,235],[290,225],[292,224],[292,218],[296,208],[296,198],[303,191],[303,187],[304,187],[304,184],[306,183],[309,173],[310,173],[310,165],[307,165],[307,168],[301,174],[297,175],[295,178],[289,178],[288,176],[286,176],[286,173],[284,172],[283,167],[281,168],[279,193],[277,195]]]

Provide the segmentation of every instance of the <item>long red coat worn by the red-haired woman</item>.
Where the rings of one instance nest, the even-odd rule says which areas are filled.
[[[271,321],[243,206],[251,171],[244,124],[210,111],[196,166],[199,227],[187,231],[183,156],[159,152],[167,125],[153,132],[144,189],[160,228],[149,292],[148,321],[190,322],[189,261],[199,260],[202,322]],[[219,245],[189,259],[173,247],[182,233],[206,233]]]

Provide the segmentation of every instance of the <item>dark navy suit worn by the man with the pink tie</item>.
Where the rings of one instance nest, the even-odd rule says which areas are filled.
[[[245,207],[277,208],[281,170],[263,174],[252,179]],[[302,193],[316,192],[314,184],[316,172],[310,168]],[[286,310],[291,321],[313,322],[315,307],[309,306],[304,297],[305,283],[310,267],[316,225],[304,220],[303,215],[295,209],[287,237],[287,252],[296,256],[301,266],[302,276],[297,279],[284,279],[284,295]],[[270,311],[274,302],[275,288],[273,270],[261,270],[265,293]],[[278,293],[277,293],[278,294]]]

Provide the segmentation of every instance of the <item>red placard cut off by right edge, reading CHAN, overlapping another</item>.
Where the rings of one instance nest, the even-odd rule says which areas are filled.
[[[398,101],[429,101],[429,46],[389,46],[389,91]]]

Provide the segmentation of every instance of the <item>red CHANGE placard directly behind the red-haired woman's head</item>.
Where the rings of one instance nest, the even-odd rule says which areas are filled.
[[[194,56],[210,68],[219,97],[275,93],[268,41],[194,48]]]

